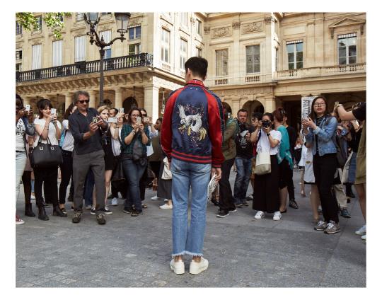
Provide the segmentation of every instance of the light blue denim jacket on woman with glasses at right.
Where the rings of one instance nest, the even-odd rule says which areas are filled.
[[[330,120],[328,120],[330,118]],[[314,120],[316,123],[316,120]],[[325,154],[337,153],[337,148],[335,146],[335,134],[337,130],[337,120],[335,117],[325,116],[323,122],[321,122],[320,127],[316,129],[308,128],[308,134],[306,134],[306,142],[308,144],[313,144],[313,155],[316,155],[316,137],[318,135],[318,154],[323,156]]]

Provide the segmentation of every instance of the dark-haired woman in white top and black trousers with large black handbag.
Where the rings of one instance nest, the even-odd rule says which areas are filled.
[[[61,123],[57,120],[56,114],[51,114],[52,103],[48,99],[41,99],[37,102],[39,116],[35,119],[36,139],[34,147],[37,146],[39,140],[47,144],[47,139],[52,145],[58,145],[59,137],[61,137]],[[58,166],[49,168],[33,168],[35,173],[35,197],[38,207],[38,219],[43,221],[49,220],[45,212],[45,207],[42,200],[42,183],[45,185],[45,197],[49,195],[53,204],[53,215],[66,217],[61,209],[59,209],[57,197],[57,175]]]

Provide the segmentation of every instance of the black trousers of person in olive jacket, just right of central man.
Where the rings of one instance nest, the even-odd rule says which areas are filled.
[[[231,184],[229,183],[229,174],[235,158],[224,161],[221,165],[221,180],[219,180],[219,207],[221,211],[228,212],[236,209],[235,201],[232,196]]]

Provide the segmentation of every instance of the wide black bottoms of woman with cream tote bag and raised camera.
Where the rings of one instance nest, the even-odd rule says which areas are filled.
[[[271,155],[271,173],[255,175],[252,208],[262,212],[277,212],[280,208],[279,163],[277,156]]]

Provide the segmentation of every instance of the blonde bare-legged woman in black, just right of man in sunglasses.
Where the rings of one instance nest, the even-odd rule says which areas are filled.
[[[100,117],[105,121],[108,122],[109,117],[109,109],[107,106],[100,106],[97,109],[98,113],[100,114]],[[108,130],[103,132],[102,135],[102,146],[103,151],[105,152],[105,214],[112,214],[112,211],[108,207],[108,195],[109,195],[109,189],[110,189],[110,181],[111,181],[111,175],[112,170],[114,169],[114,154],[112,153],[112,134],[110,132],[110,127]],[[92,211],[95,210],[96,203],[95,199],[93,197],[93,208]]]

